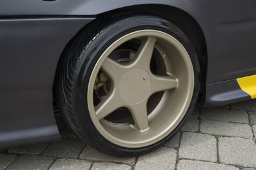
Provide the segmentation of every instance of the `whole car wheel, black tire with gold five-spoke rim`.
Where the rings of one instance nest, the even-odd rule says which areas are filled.
[[[88,145],[141,155],[170,139],[193,111],[199,76],[193,45],[177,25],[127,12],[97,18],[73,39],[57,100]]]

